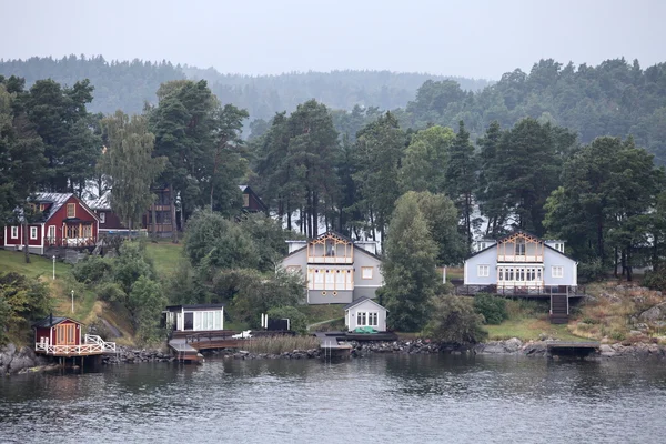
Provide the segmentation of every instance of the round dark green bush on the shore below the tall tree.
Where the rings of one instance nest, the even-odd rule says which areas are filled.
[[[474,312],[472,301],[447,295],[436,297],[424,334],[447,344],[475,344],[487,337],[483,316]]]

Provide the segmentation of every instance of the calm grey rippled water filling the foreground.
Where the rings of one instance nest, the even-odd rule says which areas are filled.
[[[0,379],[6,443],[663,443],[664,362],[373,356]]]

